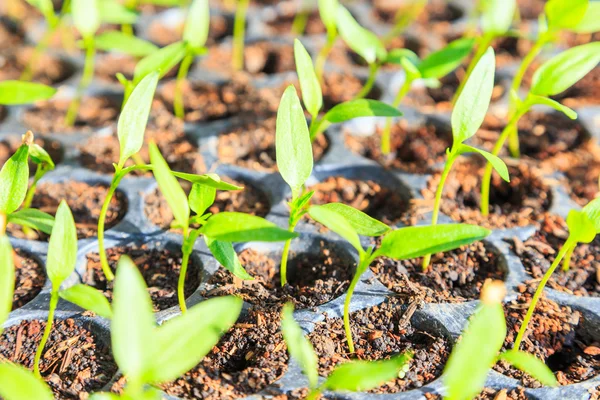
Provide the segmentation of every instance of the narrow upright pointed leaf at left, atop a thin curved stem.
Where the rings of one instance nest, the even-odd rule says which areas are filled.
[[[73,271],[77,263],[77,228],[71,209],[62,200],[56,210],[54,227],[48,244],[46,273],[56,291]]]

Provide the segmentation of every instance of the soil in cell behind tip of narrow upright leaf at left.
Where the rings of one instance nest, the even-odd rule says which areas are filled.
[[[96,236],[100,209],[106,197],[108,188],[102,184],[87,184],[85,182],[65,181],[60,183],[41,183],[33,197],[32,208],[37,208],[49,214],[56,214],[61,200],[65,200],[75,219],[77,237],[79,239]],[[106,229],[115,226],[125,216],[127,200],[125,195],[117,191],[110,202],[106,215]],[[8,231],[15,237],[24,237],[20,227],[9,224]],[[47,240],[45,233],[36,234],[29,239]]]

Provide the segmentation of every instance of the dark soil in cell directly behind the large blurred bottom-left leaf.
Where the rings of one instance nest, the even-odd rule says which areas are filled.
[[[177,281],[181,271],[181,251],[170,251],[150,247],[148,245],[134,245],[127,247],[113,247],[106,250],[108,264],[113,272],[122,255],[127,254],[142,273],[148,293],[152,298],[154,311],[166,310],[178,304]],[[112,300],[113,282],[107,282],[98,253],[86,255],[87,265],[83,275],[83,283],[101,290],[104,295]],[[185,280],[185,297],[188,298],[200,284],[200,266],[190,257]]]

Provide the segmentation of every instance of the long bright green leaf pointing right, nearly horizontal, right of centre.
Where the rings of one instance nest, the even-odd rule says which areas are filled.
[[[467,224],[409,226],[385,235],[376,254],[407,260],[453,250],[484,239],[490,233],[480,226]]]

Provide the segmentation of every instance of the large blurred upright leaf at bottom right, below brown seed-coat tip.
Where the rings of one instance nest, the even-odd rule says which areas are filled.
[[[482,304],[454,346],[444,369],[445,399],[470,400],[481,392],[505,337],[502,304]]]

